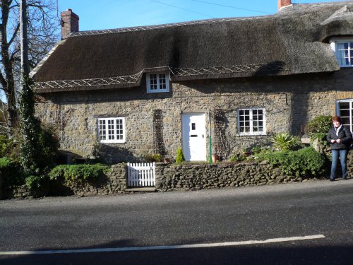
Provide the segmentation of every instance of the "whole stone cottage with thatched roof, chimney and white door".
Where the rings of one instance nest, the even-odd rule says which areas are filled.
[[[273,0],[275,1],[275,0]],[[352,130],[353,1],[292,4],[271,16],[79,31],[32,71],[36,114],[61,149],[107,162],[161,153],[229,158],[319,114]]]

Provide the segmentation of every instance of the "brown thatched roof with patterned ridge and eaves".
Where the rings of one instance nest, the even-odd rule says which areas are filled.
[[[349,9],[350,8],[350,9]],[[37,92],[337,71],[328,38],[353,35],[353,1],[294,4],[273,16],[73,33],[35,69]]]

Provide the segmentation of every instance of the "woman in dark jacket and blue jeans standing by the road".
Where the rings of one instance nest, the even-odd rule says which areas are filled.
[[[331,145],[332,165],[330,181],[336,178],[336,167],[338,158],[340,158],[342,168],[342,179],[347,179],[347,155],[349,146],[352,143],[352,134],[349,129],[342,124],[341,117],[334,116],[332,118],[333,127],[328,131],[328,142]]]

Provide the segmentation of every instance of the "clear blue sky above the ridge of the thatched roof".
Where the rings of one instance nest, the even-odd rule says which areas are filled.
[[[58,13],[70,8],[80,31],[177,23],[208,18],[264,16],[277,12],[277,0],[57,0]],[[292,0],[294,4],[340,0]]]

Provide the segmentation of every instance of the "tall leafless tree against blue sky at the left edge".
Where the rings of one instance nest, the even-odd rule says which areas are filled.
[[[0,0],[0,89],[7,100],[8,128],[18,122],[16,89],[20,83],[18,0]],[[59,40],[55,0],[28,0],[28,64],[33,69]]]

